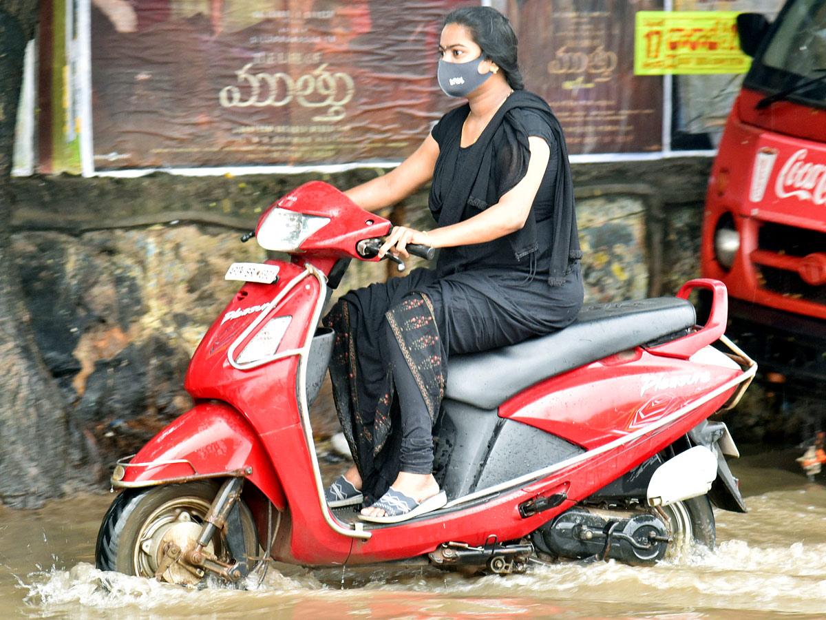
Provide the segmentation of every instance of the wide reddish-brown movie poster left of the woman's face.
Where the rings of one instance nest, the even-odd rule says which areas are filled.
[[[96,170],[401,160],[461,0],[91,0]]]

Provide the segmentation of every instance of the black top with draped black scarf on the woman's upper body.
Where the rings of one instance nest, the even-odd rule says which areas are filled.
[[[473,217],[514,188],[528,169],[529,136],[548,143],[550,159],[525,227],[486,243],[443,248],[437,272],[515,269],[543,274],[552,285],[563,284],[582,252],[567,149],[556,117],[543,99],[516,91],[477,141],[463,148],[462,126],[469,112],[467,103],[451,110],[432,131],[439,158],[430,188],[430,210],[439,226]]]

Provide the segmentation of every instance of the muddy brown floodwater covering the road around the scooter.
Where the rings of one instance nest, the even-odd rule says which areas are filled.
[[[275,565],[246,590],[183,589],[95,570],[109,494],[36,511],[0,508],[0,620],[826,620],[826,474],[810,482],[797,469],[797,455],[731,461],[751,512],[715,511],[714,551],[656,566],[568,562],[506,577]]]

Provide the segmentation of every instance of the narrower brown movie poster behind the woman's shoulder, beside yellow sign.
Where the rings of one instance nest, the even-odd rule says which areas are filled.
[[[662,0],[509,0],[525,86],[571,155],[662,150],[662,78],[634,75],[634,18]]]

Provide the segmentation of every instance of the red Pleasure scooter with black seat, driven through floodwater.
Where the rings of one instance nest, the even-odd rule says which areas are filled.
[[[563,558],[645,564],[713,546],[711,502],[745,512],[724,459],[737,449],[708,418],[757,367],[725,338],[726,289],[709,279],[453,356],[434,426],[447,505],[389,525],[331,509],[309,413],[335,337],[319,319],[350,260],[378,260],[390,229],[321,182],[263,213],[245,237],[289,259],[230,267],[245,284],[192,357],[195,406],[112,474],[123,491],[103,517],[99,569],[195,584],[238,581],[271,558],[502,574]],[[686,299],[696,288],[713,293],[703,327]]]

